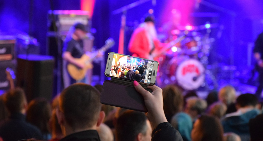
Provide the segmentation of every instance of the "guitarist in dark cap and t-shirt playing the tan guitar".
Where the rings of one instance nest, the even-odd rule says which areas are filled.
[[[76,83],[77,81],[73,79],[67,72],[66,64],[72,63],[76,65],[78,68],[84,68],[84,63],[79,63],[76,61],[76,58],[81,58],[83,54],[85,54],[83,50],[83,39],[86,37],[87,34],[86,27],[81,23],[74,24],[64,41],[63,47],[63,79],[64,79],[64,87],[69,86],[70,84]],[[79,80],[78,82],[86,82],[86,78]]]

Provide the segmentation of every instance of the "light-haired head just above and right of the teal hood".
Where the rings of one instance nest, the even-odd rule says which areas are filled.
[[[198,97],[188,97],[186,100],[185,112],[189,114],[192,120],[195,120],[198,115],[203,113],[207,107],[205,100]]]

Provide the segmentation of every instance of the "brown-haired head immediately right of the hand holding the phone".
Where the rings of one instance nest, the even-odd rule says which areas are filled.
[[[179,112],[183,108],[182,90],[175,85],[167,85],[163,88],[164,113],[172,114]]]

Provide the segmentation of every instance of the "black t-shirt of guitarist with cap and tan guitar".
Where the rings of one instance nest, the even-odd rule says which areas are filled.
[[[66,41],[63,47],[63,52],[65,51],[71,52],[71,55],[74,58],[81,58],[81,56],[84,54],[83,41],[76,41],[74,39]]]

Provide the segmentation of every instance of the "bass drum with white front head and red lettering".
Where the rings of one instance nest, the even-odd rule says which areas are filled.
[[[205,80],[205,68],[196,59],[173,58],[168,65],[170,81],[177,82],[185,90],[199,88]]]

